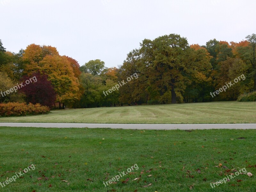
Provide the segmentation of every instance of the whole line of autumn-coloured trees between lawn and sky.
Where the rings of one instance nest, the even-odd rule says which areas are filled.
[[[239,43],[212,39],[206,45],[189,45],[177,34],[144,39],[118,68],[106,68],[98,59],[80,67],[75,59],[46,45],[30,44],[18,53],[9,52],[0,40],[0,90],[37,77],[37,82],[0,97],[0,102],[92,108],[236,100],[256,91],[256,35],[245,38]],[[103,94],[133,74],[138,78]],[[211,96],[242,74],[244,81]]]

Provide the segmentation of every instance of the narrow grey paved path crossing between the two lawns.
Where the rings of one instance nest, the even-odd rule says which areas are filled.
[[[112,128],[112,129],[256,129],[256,124],[86,124],[86,123],[0,123],[6,127]]]

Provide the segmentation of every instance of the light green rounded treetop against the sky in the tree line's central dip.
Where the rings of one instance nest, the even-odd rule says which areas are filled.
[[[80,67],[80,70],[84,73],[91,73],[92,75],[100,75],[105,69],[105,62],[99,59],[90,60]]]

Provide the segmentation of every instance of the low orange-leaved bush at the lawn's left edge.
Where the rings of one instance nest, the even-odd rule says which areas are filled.
[[[47,114],[50,108],[41,106],[40,104],[33,105],[29,103],[0,103],[0,116],[26,116]]]

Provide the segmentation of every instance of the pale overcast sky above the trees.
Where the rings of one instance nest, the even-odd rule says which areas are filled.
[[[255,0],[0,0],[6,50],[51,45],[78,61],[123,64],[142,40],[179,34],[189,44],[256,33]]]

